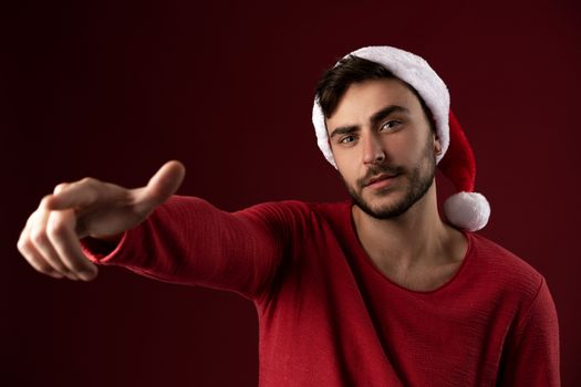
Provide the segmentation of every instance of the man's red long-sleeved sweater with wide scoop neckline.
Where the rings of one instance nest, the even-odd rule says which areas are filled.
[[[376,269],[351,202],[228,213],[175,196],[113,252],[84,248],[101,264],[252,300],[260,386],[559,386],[559,327],[544,278],[464,233],[460,269],[429,292]]]

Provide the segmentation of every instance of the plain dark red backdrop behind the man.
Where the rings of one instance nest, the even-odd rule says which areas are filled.
[[[256,385],[248,301],[118,268],[53,280],[19,255],[19,232],[60,181],[136,187],[172,158],[187,167],[179,194],[225,210],[344,198],[315,145],[313,90],[339,56],[390,44],[448,84],[492,207],[481,233],[547,278],[563,386],[580,385],[581,8],[440,3],[3,2],[0,383]]]

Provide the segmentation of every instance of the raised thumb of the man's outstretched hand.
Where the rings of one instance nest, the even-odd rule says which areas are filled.
[[[138,190],[139,205],[148,210],[162,205],[177,191],[185,175],[186,168],[181,163],[177,160],[167,161],[149,179],[147,186]]]

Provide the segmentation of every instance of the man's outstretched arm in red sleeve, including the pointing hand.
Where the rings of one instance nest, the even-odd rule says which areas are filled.
[[[283,257],[302,240],[305,203],[261,203],[226,212],[173,195],[184,167],[170,161],[146,187],[95,179],[60,185],[22,231],[19,249],[38,271],[89,281],[96,265],[121,265],[156,280],[266,294]]]

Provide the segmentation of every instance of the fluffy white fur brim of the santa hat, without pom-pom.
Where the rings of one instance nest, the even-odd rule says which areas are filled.
[[[436,161],[439,163],[446,154],[449,144],[448,112],[450,98],[448,88],[438,74],[436,74],[429,64],[421,56],[388,45],[362,48],[351,52],[344,57],[350,55],[384,65],[395,76],[407,82],[419,93],[434,116],[436,133],[442,144],[442,153],[436,157]],[[338,64],[339,62],[335,66]],[[329,146],[325,117],[318,98],[314,100],[312,121],[319,148],[326,160],[336,168],[333,153]]]

